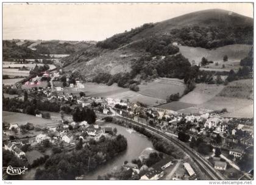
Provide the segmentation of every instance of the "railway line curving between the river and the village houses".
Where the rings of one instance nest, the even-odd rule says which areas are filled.
[[[183,142],[179,141],[179,139],[172,137],[172,136],[168,136],[167,134],[163,133],[160,130],[157,130],[153,127],[149,127],[148,125],[143,125],[140,124],[139,122],[136,122],[135,120],[132,119],[128,119],[127,117],[123,117],[118,115],[117,113],[114,114],[116,119],[119,120],[124,120],[126,122],[128,122],[129,124],[133,124],[133,125],[137,125],[140,127],[144,127],[146,128],[146,130],[150,130],[153,131],[155,134],[158,134],[160,136],[162,136],[163,138],[168,139],[169,141],[173,142],[174,144],[176,144],[178,147],[180,147],[185,153],[187,153],[193,160],[194,162],[196,162],[196,164],[199,166],[199,168],[202,170],[202,172],[205,173],[205,175],[207,176],[206,178],[209,178],[210,180],[226,180],[226,177],[223,176],[221,173],[219,173],[217,170],[215,170],[208,161],[206,161],[204,158],[202,158],[201,155],[199,155],[195,150],[193,150],[192,148],[188,147],[186,144],[184,144]]]

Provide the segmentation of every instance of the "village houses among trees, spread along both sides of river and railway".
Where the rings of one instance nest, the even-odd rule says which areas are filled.
[[[29,99],[37,97],[40,101],[60,104],[60,110],[65,114],[70,114],[77,107],[89,108],[96,114],[96,122],[88,124],[86,120],[74,121],[70,116],[66,116],[68,119],[65,119],[61,113],[61,119],[55,120],[55,124],[52,125],[40,126],[30,122],[25,125],[18,125],[15,122],[3,124],[4,149],[13,152],[18,158],[27,160],[32,167],[37,166],[40,160],[46,161],[52,153],[58,153],[59,148],[69,152],[77,147],[90,145],[92,140],[115,137],[116,128],[101,127],[100,123],[108,120],[105,118],[116,115],[178,138],[201,153],[216,170],[225,173],[227,169],[235,169],[231,173],[234,178],[239,174],[237,172],[244,170],[240,167],[240,161],[244,156],[252,156],[253,127],[249,119],[221,117],[218,113],[207,110],[185,114],[148,107],[140,102],[130,103],[129,100],[86,96],[80,90],[86,86],[80,83],[79,79],[69,78],[64,77],[61,71],[52,74],[44,72],[40,77],[30,79],[24,84],[30,86],[27,90]],[[37,85],[41,84],[38,82],[42,79],[48,80],[48,85],[37,88]],[[60,83],[64,85],[56,86]],[[46,116],[45,113],[38,111],[35,116],[51,119],[51,113]],[[16,136],[17,133],[19,137]],[[190,163],[183,162],[181,165],[179,160],[169,157],[150,167],[129,162],[123,164],[123,169],[132,170],[133,175],[139,174],[141,180],[162,179],[168,167],[172,169],[172,180],[199,178]]]

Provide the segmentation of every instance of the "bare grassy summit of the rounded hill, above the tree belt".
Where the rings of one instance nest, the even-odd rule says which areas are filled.
[[[183,27],[192,26],[250,27],[253,26],[253,19],[221,9],[202,10],[156,23],[154,27],[135,35],[132,40],[150,37],[155,34],[169,33],[169,30],[172,29],[182,29]]]

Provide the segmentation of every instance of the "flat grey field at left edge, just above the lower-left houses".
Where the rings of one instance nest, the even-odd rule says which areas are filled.
[[[9,111],[2,111],[2,117],[4,122],[10,124],[24,125],[27,122],[30,122],[34,125],[46,126],[54,124],[55,122],[51,119],[44,119],[41,117],[35,117],[29,114],[23,113],[12,113]]]

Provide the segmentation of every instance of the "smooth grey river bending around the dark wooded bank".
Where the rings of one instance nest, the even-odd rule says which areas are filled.
[[[117,128],[118,133],[122,134],[127,139],[127,150],[115,156],[113,160],[99,166],[98,169],[84,176],[84,180],[97,180],[98,175],[110,173],[116,166],[121,166],[124,161],[131,162],[132,159],[137,159],[141,152],[146,148],[154,148],[152,142],[143,134],[138,133],[130,128],[122,127],[108,122],[100,122],[102,127]]]

